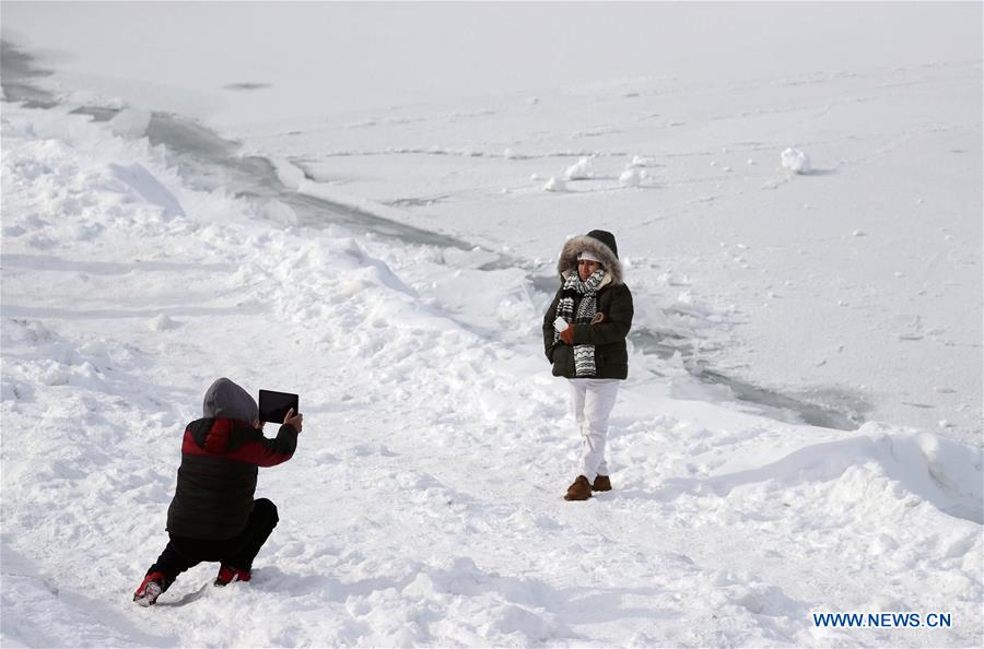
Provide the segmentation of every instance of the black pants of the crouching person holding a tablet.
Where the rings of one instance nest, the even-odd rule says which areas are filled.
[[[222,562],[233,568],[250,570],[253,559],[259,554],[279,520],[273,503],[267,498],[254,500],[246,529],[239,534],[218,541],[171,534],[167,547],[147,574],[163,573],[164,590],[167,590],[178,575],[201,562]]]

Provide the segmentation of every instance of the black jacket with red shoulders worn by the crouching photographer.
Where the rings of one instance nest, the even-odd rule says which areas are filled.
[[[190,539],[235,536],[253,511],[257,468],[285,462],[296,448],[297,430],[288,424],[269,439],[246,422],[191,422],[185,429],[167,531]]]

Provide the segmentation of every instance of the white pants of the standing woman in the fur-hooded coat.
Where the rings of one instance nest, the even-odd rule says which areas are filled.
[[[605,442],[608,439],[608,415],[619,396],[619,379],[567,379],[571,381],[571,404],[574,422],[582,438],[582,475],[595,482],[608,475]]]

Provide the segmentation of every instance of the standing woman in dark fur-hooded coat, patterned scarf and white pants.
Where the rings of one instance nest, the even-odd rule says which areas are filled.
[[[614,235],[593,229],[571,238],[557,264],[561,286],[543,317],[543,347],[553,376],[571,384],[574,421],[582,437],[582,469],[565,500],[611,491],[605,442],[608,415],[629,376],[625,337],[632,293],[622,278]]]

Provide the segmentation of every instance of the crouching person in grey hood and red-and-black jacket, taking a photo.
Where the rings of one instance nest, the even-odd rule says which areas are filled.
[[[227,378],[209,387],[202,415],[185,429],[167,509],[171,540],[133,593],[141,606],[152,605],[178,575],[201,562],[221,563],[215,586],[249,581],[253,559],[277,527],[277,506],[253,498],[257,468],[291,459],[303,415],[291,410],[277,437],[263,437],[256,401]]]

